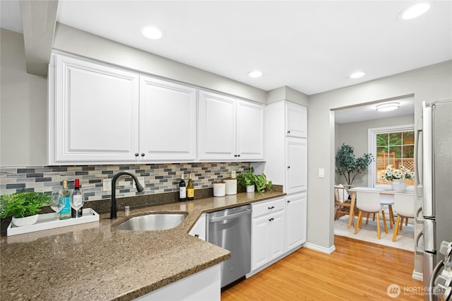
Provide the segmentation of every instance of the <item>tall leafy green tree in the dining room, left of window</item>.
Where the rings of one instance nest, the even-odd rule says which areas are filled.
[[[357,175],[367,170],[370,163],[374,161],[374,156],[365,153],[362,157],[355,158],[353,147],[343,143],[338,149],[335,157],[336,172],[345,177],[345,181],[349,186]]]

